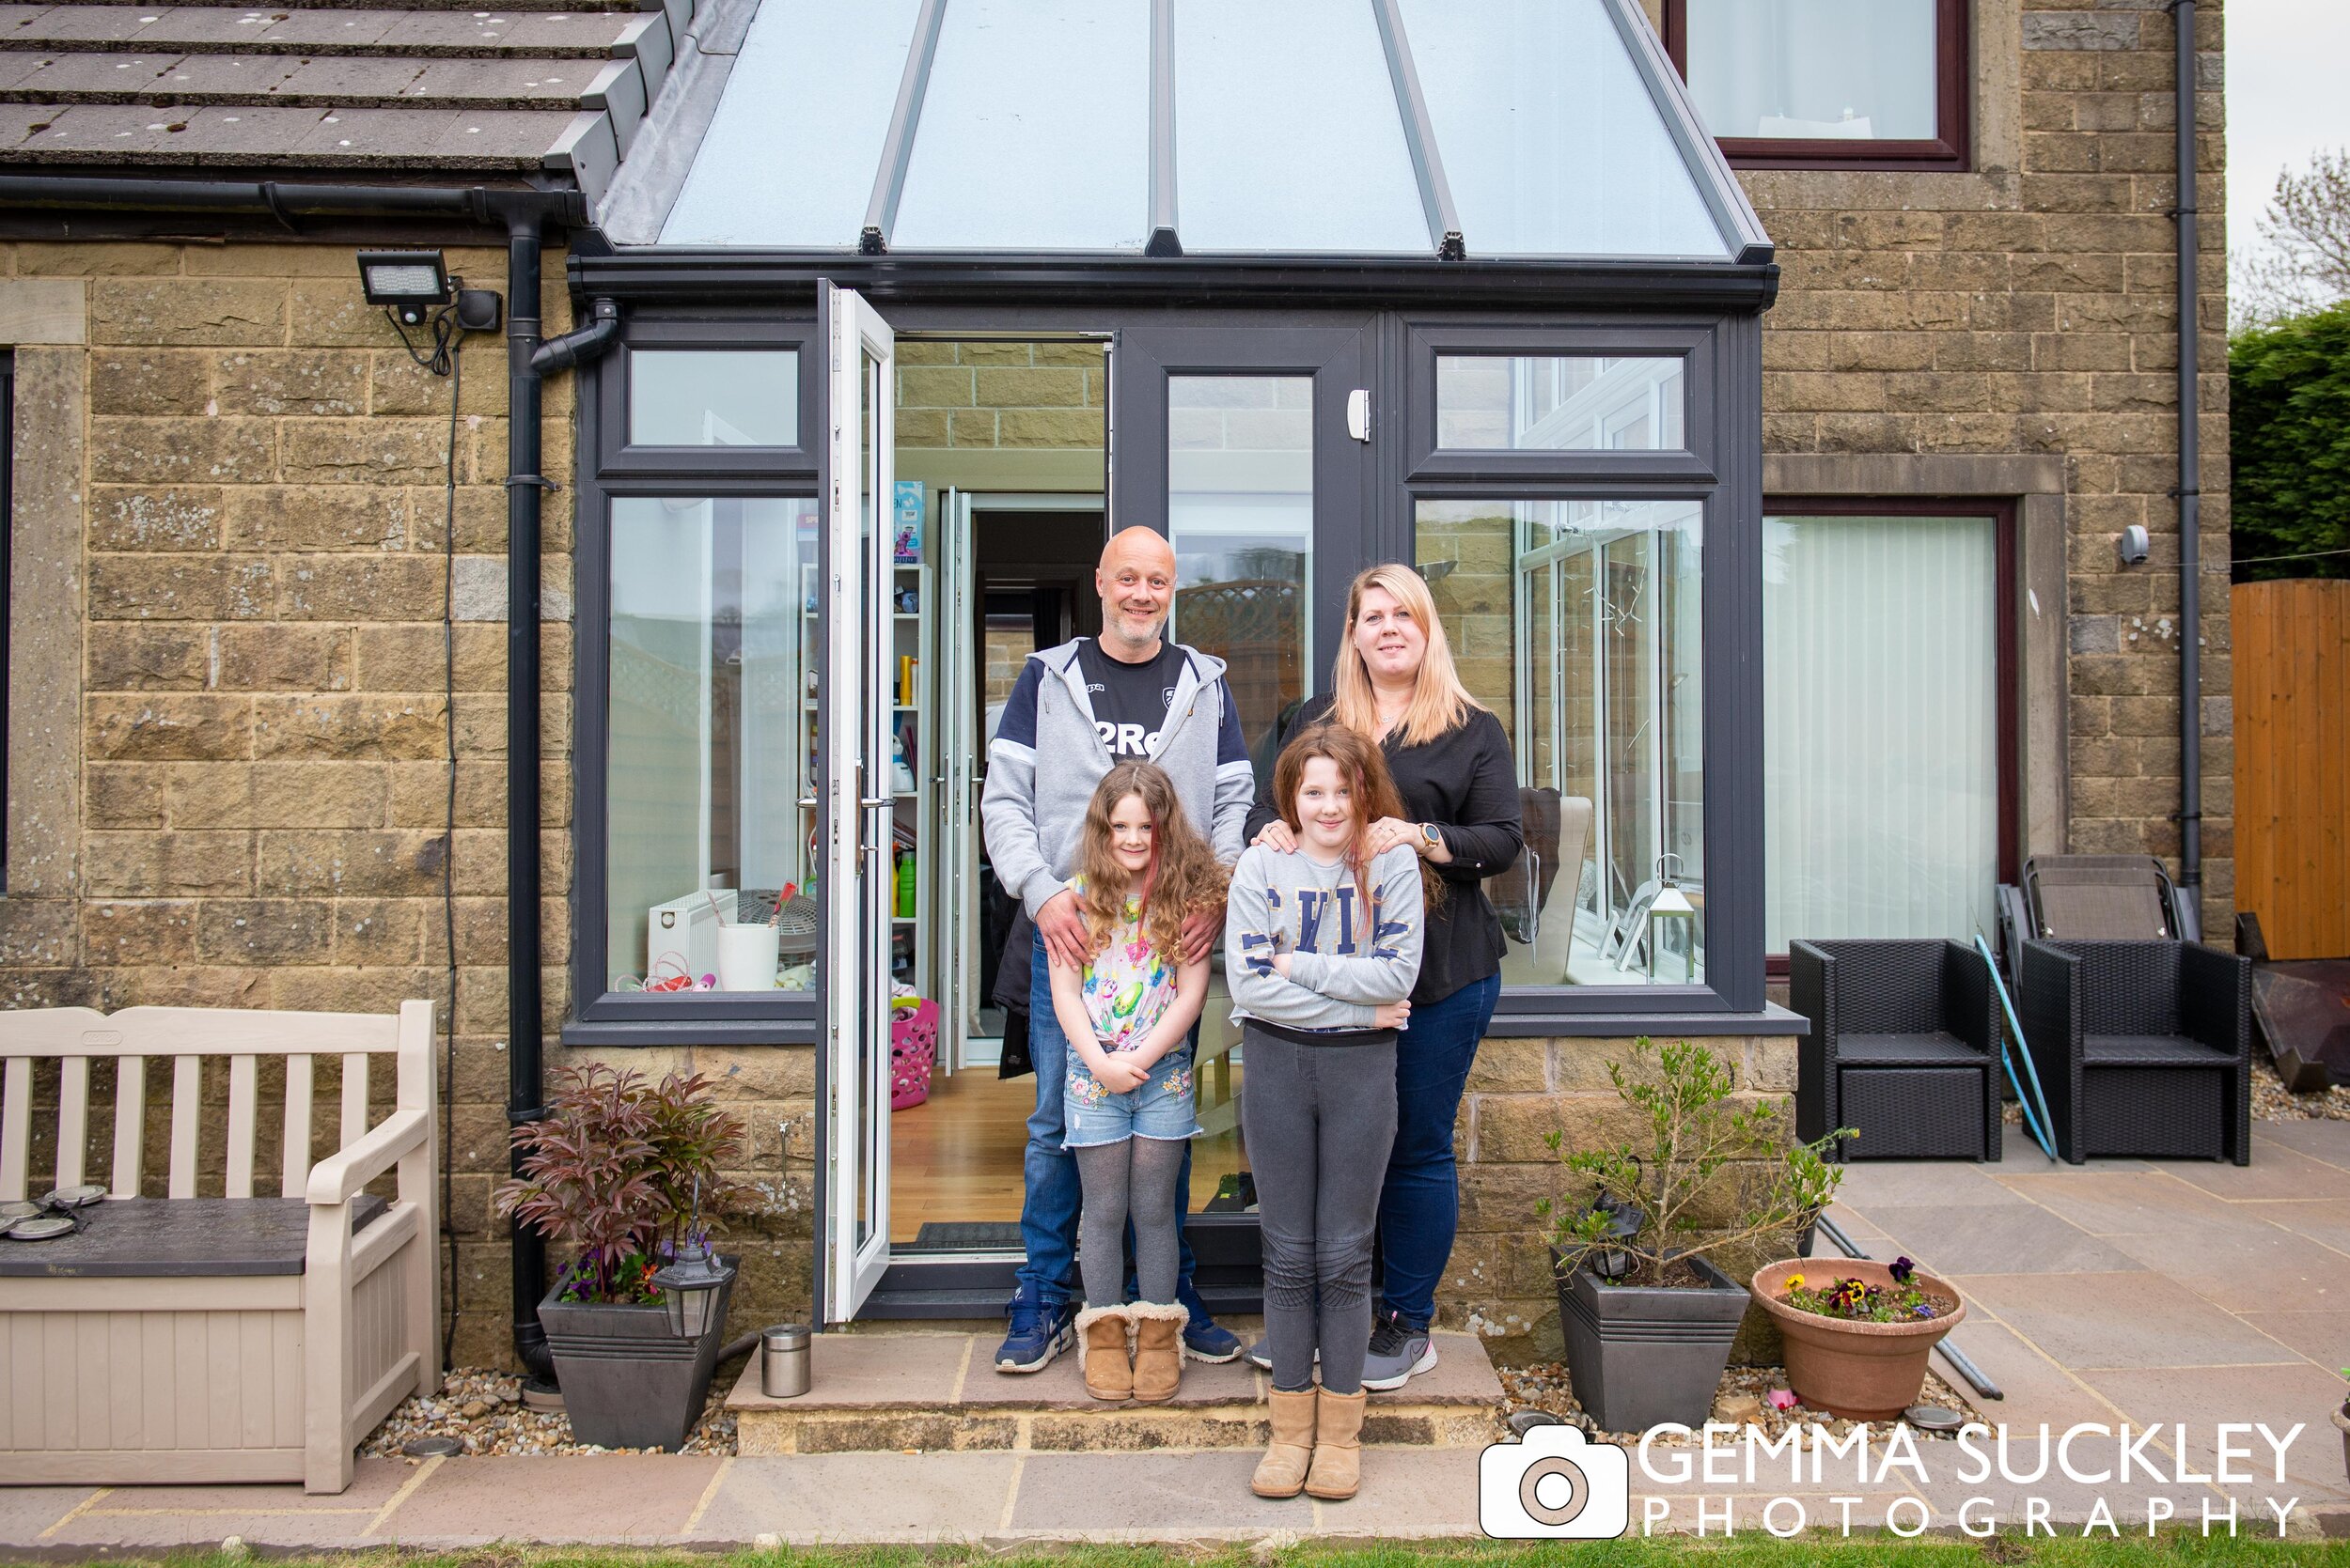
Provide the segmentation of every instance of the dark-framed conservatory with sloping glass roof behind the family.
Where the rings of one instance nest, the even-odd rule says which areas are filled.
[[[602,232],[564,1038],[813,1056],[827,1322],[1018,1249],[978,798],[1114,528],[1260,768],[1349,577],[1422,570],[1516,749],[1495,1033],[1762,1033],[1777,270],[1636,0],[766,0]]]

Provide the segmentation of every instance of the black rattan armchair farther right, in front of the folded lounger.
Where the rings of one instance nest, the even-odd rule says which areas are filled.
[[[2251,962],[2193,941],[2026,941],[2056,1148],[2251,1162]]]

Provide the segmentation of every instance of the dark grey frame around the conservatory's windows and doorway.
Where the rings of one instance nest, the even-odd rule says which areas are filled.
[[[945,261],[921,268],[924,286],[902,258],[860,263],[839,256],[773,258],[738,254],[637,254],[573,258],[583,291],[625,300],[623,343],[658,347],[740,347],[759,329],[761,345],[801,352],[801,448],[637,448],[620,444],[625,401],[611,383],[625,357],[588,371],[580,392],[580,538],[576,669],[576,878],[573,1009],[569,1045],[799,1042],[820,1035],[815,995],[738,998],[606,993],[604,955],[604,699],[609,660],[609,500],[616,495],[822,495],[822,392],[811,392],[822,364],[813,319],[818,275],[839,277],[872,298],[900,333],[1114,333],[1112,352],[1112,523],[1166,528],[1166,399],[1159,373],[1314,373],[1316,434],[1323,420],[1344,427],[1344,390],[1372,394],[1372,444],[1330,455],[1316,441],[1316,685],[1337,653],[1344,606],[1332,603],[1356,566],[1412,559],[1412,507],[1422,498],[1659,498],[1706,505],[1704,523],[1704,744],[1708,948],[1704,986],[1549,986],[1506,988],[1492,1035],[1617,1035],[1784,1030],[1765,1023],[1762,976],[1762,408],[1760,315],[1774,270],[1730,263],[1716,277],[1685,268],[1469,279],[1450,268],[1445,286],[1422,286],[1412,270],[1382,272],[1384,291],[1365,298],[1365,272],[1332,272],[1328,286],[1304,286],[1295,265],[1215,268],[1243,286],[1222,300],[1175,279],[1152,286],[1152,272],[1189,272],[1189,263],[1058,265],[1050,296],[1027,277],[1025,258]],[[999,286],[985,289],[994,275]],[[797,277],[797,284],[794,284]],[[1436,284],[1438,277],[1426,277]],[[1668,291],[1661,284],[1673,284]],[[1466,286],[1462,286],[1466,284]],[[1492,310],[1457,310],[1455,300],[1492,291]],[[1671,298],[1661,298],[1668,293]],[[1539,298],[1528,298],[1539,296]],[[1441,305],[1438,305],[1441,300]],[[1650,310],[1626,310],[1647,300]],[[1666,305],[1668,307],[1657,307]],[[1610,307],[1612,305],[1612,307]],[[1351,338],[1351,345],[1337,343]],[[1332,347],[1337,345],[1337,347]],[[1438,453],[1434,448],[1436,352],[1683,352],[1690,359],[1685,453]],[[1351,364],[1349,364],[1351,354]],[[1323,378],[1340,397],[1321,397]],[[1156,385],[1156,401],[1152,397]],[[1340,387],[1340,383],[1349,383]],[[1741,392],[1744,387],[1744,392]],[[1424,439],[1422,434],[1424,432]],[[726,458],[721,472],[710,458]],[[1464,458],[1469,458],[1464,462]],[[1506,462],[1495,462],[1506,458]],[[1530,462],[1528,462],[1530,458]],[[1325,484],[1325,462],[1337,462]],[[1361,474],[1361,477],[1356,477]],[[1342,495],[1361,498],[1349,528]]]

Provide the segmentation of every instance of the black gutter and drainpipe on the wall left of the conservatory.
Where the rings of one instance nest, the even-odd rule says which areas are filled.
[[[597,300],[595,322],[555,343],[538,340],[540,235],[555,223],[585,228],[588,200],[576,190],[489,190],[435,185],[287,185],[167,178],[49,178],[0,176],[0,207],[110,209],[110,211],[214,211],[273,218],[301,232],[301,216],[454,218],[505,223],[505,1007],[510,1124],[543,1115],[545,1059],[540,1042],[538,984],[538,500],[548,486],[540,462],[540,376],[595,357],[618,331],[609,300]],[[454,850],[454,845],[451,845]],[[451,998],[454,1005],[454,998]],[[449,1150],[442,1150],[449,1157]],[[555,1368],[548,1336],[538,1326],[538,1300],[548,1293],[548,1246],[533,1230],[515,1225],[515,1354],[540,1378]]]

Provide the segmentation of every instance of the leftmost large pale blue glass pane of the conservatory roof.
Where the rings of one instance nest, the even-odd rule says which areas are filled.
[[[766,0],[663,244],[855,249],[921,0]]]

